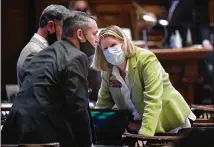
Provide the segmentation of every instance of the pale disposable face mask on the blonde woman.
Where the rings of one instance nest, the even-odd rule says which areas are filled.
[[[121,48],[121,44],[109,47],[104,51],[104,56],[112,65],[120,65],[125,61],[125,53]]]

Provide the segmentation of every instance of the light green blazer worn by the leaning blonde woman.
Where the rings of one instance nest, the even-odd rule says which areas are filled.
[[[139,133],[153,136],[164,133],[184,124],[191,110],[169,81],[156,56],[149,50],[136,47],[136,55],[128,62],[128,73],[134,81],[131,86],[131,100],[137,112],[142,116]],[[125,109],[120,88],[109,87],[109,79],[116,80],[108,72],[102,72],[102,82],[95,108]]]

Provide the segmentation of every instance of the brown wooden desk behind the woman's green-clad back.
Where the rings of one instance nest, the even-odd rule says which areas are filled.
[[[194,104],[194,84],[199,77],[199,60],[212,50],[198,48],[151,49],[161,62],[173,86],[184,96],[188,104]]]

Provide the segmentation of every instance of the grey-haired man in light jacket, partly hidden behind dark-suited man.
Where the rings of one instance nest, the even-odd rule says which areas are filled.
[[[24,47],[17,62],[19,87],[21,87],[24,81],[23,73],[31,58],[55,41],[61,39],[62,22],[69,13],[69,10],[62,5],[50,5],[43,10],[39,20],[39,29]]]

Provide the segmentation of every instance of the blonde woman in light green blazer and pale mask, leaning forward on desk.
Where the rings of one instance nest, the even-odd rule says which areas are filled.
[[[102,72],[95,108],[128,110],[145,136],[191,127],[195,115],[151,51],[134,46],[118,26],[102,30],[99,39],[92,63]]]

